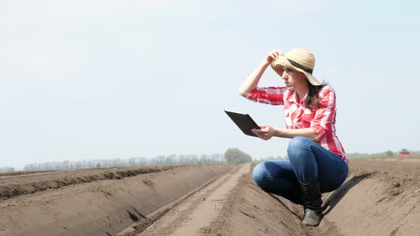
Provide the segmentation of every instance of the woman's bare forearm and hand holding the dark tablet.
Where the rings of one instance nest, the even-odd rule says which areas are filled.
[[[269,125],[262,125],[260,127],[261,129],[253,129],[252,132],[264,140],[271,139],[271,137],[273,136],[278,136],[280,138],[289,138],[289,139],[292,139],[295,136],[304,136],[312,141],[315,141],[316,143],[320,141],[318,139],[317,133],[315,132],[313,128],[284,129],[284,128],[272,127]]]

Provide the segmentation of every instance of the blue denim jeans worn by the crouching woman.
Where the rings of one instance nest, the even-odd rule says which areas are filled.
[[[302,203],[299,181],[320,181],[321,193],[334,191],[349,173],[347,163],[314,141],[297,136],[288,146],[289,160],[258,163],[252,177],[268,193],[281,195],[294,203]]]

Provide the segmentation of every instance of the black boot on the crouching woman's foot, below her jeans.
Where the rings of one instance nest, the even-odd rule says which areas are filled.
[[[305,217],[302,220],[303,225],[319,225],[322,219],[322,199],[319,181],[300,183],[300,191],[302,191],[303,206],[305,207]]]

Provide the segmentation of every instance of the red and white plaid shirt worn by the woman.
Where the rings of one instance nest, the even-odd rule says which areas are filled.
[[[307,94],[308,95],[308,94]],[[305,95],[306,97],[306,95]],[[347,155],[340,140],[335,135],[335,91],[328,86],[319,92],[321,107],[308,109],[305,98],[300,101],[298,93],[285,87],[257,87],[247,97],[253,102],[284,105],[287,129],[312,128],[317,133],[320,146],[340,156],[348,163]]]

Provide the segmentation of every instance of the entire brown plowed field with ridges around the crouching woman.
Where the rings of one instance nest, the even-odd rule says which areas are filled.
[[[420,235],[419,157],[352,159],[319,227],[254,165],[1,174],[0,235]]]

